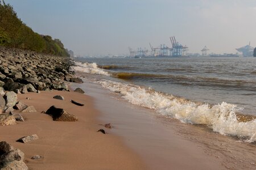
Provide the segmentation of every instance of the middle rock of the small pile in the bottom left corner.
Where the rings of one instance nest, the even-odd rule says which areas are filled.
[[[12,162],[14,160],[24,160],[25,154],[19,149],[7,152],[6,154],[1,155],[1,162]]]

